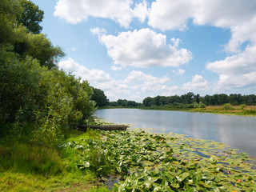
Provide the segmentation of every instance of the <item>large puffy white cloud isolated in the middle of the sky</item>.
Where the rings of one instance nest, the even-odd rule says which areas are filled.
[[[179,39],[172,39],[174,46],[166,44],[166,35],[147,28],[118,36],[103,34],[99,39],[114,64],[122,66],[181,66],[192,59],[189,50],[178,49]]]

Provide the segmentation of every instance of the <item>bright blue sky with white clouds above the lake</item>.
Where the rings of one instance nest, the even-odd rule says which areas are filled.
[[[58,67],[110,101],[256,94],[255,0],[32,0]]]

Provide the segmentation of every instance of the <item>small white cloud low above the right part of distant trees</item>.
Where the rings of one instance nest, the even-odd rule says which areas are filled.
[[[202,78],[202,75],[196,74],[192,78],[192,82],[186,82],[183,86],[183,90],[208,90],[210,84]]]

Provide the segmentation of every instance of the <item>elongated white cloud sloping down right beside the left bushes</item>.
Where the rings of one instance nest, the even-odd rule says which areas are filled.
[[[89,70],[85,66],[74,62],[72,58],[58,63],[58,67],[65,71],[72,71],[74,75],[81,77],[82,80],[88,80],[92,83],[109,82],[112,79],[110,74],[106,74],[103,70]]]

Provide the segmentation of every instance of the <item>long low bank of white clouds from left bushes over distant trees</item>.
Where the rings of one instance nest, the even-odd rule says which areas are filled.
[[[158,78],[142,71],[132,70],[129,74],[126,74],[125,78],[115,80],[103,70],[89,70],[72,58],[59,62],[58,67],[66,72],[73,72],[82,80],[88,80],[91,85],[103,90],[110,101],[126,98],[142,102],[142,99],[149,94],[173,95],[178,92],[178,86],[166,85],[170,82],[170,78]]]

